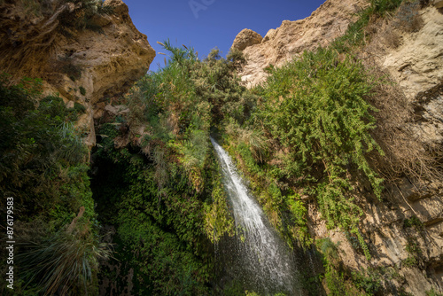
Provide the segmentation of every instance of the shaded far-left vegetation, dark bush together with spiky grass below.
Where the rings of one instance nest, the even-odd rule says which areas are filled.
[[[63,100],[40,89],[38,80],[0,78],[0,194],[14,199],[15,292],[78,295],[93,290],[97,260],[110,252],[97,237],[86,148]]]

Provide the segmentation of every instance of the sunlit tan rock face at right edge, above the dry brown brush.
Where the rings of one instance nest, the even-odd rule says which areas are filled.
[[[403,34],[400,46],[385,49],[379,61],[416,105],[417,120],[409,128],[428,144],[442,144],[443,15],[433,6],[420,13],[423,27]]]

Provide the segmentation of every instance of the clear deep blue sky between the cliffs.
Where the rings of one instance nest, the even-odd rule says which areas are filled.
[[[280,27],[284,19],[304,19],[324,0],[123,0],[138,30],[148,36],[157,52],[164,52],[157,41],[167,38],[173,45],[192,46],[199,57],[214,47],[224,57],[234,38],[244,28],[263,37],[270,28]],[[150,69],[164,65],[165,56],[157,55]]]

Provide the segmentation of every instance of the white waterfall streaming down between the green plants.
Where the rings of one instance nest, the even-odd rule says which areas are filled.
[[[291,251],[268,222],[260,205],[251,196],[227,152],[211,137],[220,160],[223,185],[237,227],[237,236],[229,246],[229,267],[243,286],[260,295],[299,295],[297,274]]]

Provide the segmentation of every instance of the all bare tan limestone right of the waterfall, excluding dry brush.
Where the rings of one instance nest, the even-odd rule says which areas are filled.
[[[390,36],[380,28],[374,41],[359,52],[363,59],[374,58],[377,68],[397,82],[394,84],[408,104],[414,106],[413,120],[403,122],[398,129],[406,130],[424,147],[436,149],[443,144],[443,14],[439,3],[434,1],[418,9],[423,23],[413,32],[393,29],[399,35],[398,46],[375,45]],[[346,32],[354,13],[367,4],[328,0],[307,19],[284,20],[281,27],[270,29],[261,43],[245,47],[247,64],[240,72],[243,81],[249,87],[264,82],[263,68],[269,64],[283,66],[302,51],[327,45]],[[390,26],[388,22],[380,26]],[[392,134],[392,138],[395,136]],[[369,184],[361,186],[370,188]],[[312,236],[339,243],[340,258],[348,269],[384,269],[385,283],[389,283],[384,284],[384,295],[396,295],[401,289],[420,296],[432,289],[443,292],[443,180],[439,176],[425,180],[404,177],[387,184],[385,194],[388,202],[357,197],[364,212],[361,234],[369,245],[370,263],[361,251],[355,251],[349,234],[328,230],[315,203],[307,201]],[[409,225],[413,219],[420,226]],[[411,253],[411,242],[420,251]],[[416,262],[408,265],[414,258]]]

